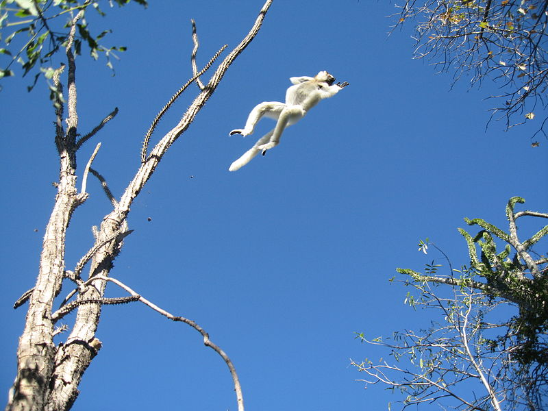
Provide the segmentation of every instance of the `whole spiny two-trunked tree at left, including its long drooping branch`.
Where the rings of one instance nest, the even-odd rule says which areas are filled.
[[[128,0],[129,1],[129,0]],[[42,21],[42,28],[47,27],[47,19],[43,17],[40,2],[25,3],[29,8],[29,14],[35,15],[34,21]],[[120,0],[119,3],[127,3]],[[75,63],[75,33],[77,24],[83,18],[86,7],[91,1],[85,1],[77,7],[66,12],[75,13],[69,23],[69,32],[64,37],[54,38],[55,48],[60,47],[60,38],[66,53],[66,66],[53,70],[53,100],[55,102],[55,145],[60,155],[60,175],[55,197],[55,205],[46,227],[42,253],[40,256],[40,268],[36,286],[25,292],[15,303],[15,308],[28,301],[27,318],[23,335],[19,340],[17,351],[18,369],[14,385],[10,390],[10,397],[6,410],[69,410],[78,395],[78,384],[92,359],[101,349],[101,341],[95,337],[101,306],[103,304],[120,304],[132,301],[141,301],[153,310],[167,316],[173,321],[184,322],[197,329],[203,336],[204,343],[221,355],[229,366],[234,379],[238,409],[243,410],[243,399],[238,383],[238,377],[232,362],[228,356],[209,339],[204,331],[194,321],[182,316],[175,316],[155,306],[131,288],[110,277],[110,271],[116,256],[123,247],[124,238],[132,230],[127,224],[127,216],[130,206],[139,192],[145,186],[169,147],[185,132],[195,116],[212,96],[216,87],[221,82],[229,66],[234,59],[249,45],[249,42],[258,34],[262,21],[269,10],[272,0],[267,0],[253,27],[224,60],[217,66],[214,74],[208,82],[201,82],[200,77],[205,73],[214,60],[219,57],[226,46],[223,46],[206,64],[198,71],[195,62],[198,40],[196,27],[192,21],[192,39],[195,42],[195,51],[192,53],[192,77],[180,88],[166,103],[145,136],[140,156],[140,166],[136,170],[132,181],[125,188],[120,199],[115,199],[110,192],[108,184],[99,173],[92,169],[92,162],[99,150],[97,145],[91,158],[82,172],[82,187],[78,190],[76,158],[79,149],[85,142],[97,134],[110,120],[116,116],[117,109],[112,110],[92,131],[88,134],[80,134],[78,131],[79,114],[77,112],[77,88],[76,88],[76,63]],[[64,13],[64,12],[62,12]],[[47,32],[50,32],[49,29]],[[80,33],[82,34],[82,33]],[[55,40],[56,39],[56,40]],[[42,40],[43,41],[43,40]],[[62,73],[66,69],[66,103],[62,99],[63,86]],[[180,121],[167,132],[157,144],[149,151],[151,135],[172,103],[186,91],[193,82],[197,83],[199,92],[186,112],[182,114]],[[67,116],[64,119],[64,109]],[[82,135],[82,136],[80,136]],[[82,206],[88,198],[86,192],[88,175],[91,173],[99,179],[105,194],[112,203],[112,211],[103,217],[100,227],[93,227],[95,243],[90,245],[89,251],[82,256],[73,270],[68,270],[64,260],[66,249],[66,229],[71,222],[74,210]],[[82,279],[82,273],[89,266],[88,278]],[[60,308],[54,308],[55,297],[61,292],[63,282],[71,282],[73,291],[62,301]],[[108,283],[119,286],[129,295],[127,297],[105,298],[105,287]],[[75,299],[73,297],[75,296]],[[76,310],[76,319],[71,327],[69,336],[62,343],[56,345],[53,336],[62,329],[55,328],[60,319],[69,312]]]

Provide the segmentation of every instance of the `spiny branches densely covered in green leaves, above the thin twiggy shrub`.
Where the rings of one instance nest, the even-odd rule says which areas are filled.
[[[512,197],[508,201],[508,232],[483,219],[464,219],[468,225],[479,225],[482,229],[475,236],[462,228],[458,229],[466,240],[470,258],[469,266],[464,266],[462,270],[451,269],[449,277],[438,275],[440,265],[432,261],[426,264],[425,273],[410,269],[397,271],[408,275],[410,281],[406,284],[414,285],[419,290],[423,290],[424,284],[447,284],[461,292],[463,288],[481,292],[488,297],[486,304],[489,301],[513,303],[519,314],[505,322],[508,332],[486,343],[511,350],[512,358],[521,364],[541,364],[548,369],[548,258],[532,250],[540,240],[547,238],[548,225],[526,240],[519,239],[516,225],[516,221],[523,216],[548,219],[548,214],[515,212],[516,204],[524,202],[521,197]],[[438,248],[433,243],[424,243],[421,249],[426,249],[427,245]],[[419,300],[412,299],[408,294],[407,303],[416,301]]]

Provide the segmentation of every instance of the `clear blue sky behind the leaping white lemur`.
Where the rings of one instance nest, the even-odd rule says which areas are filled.
[[[114,30],[107,44],[128,47],[114,77],[103,60],[77,58],[80,132],[120,109],[79,153],[79,173],[101,141],[94,168],[116,197],[137,169],[155,114],[190,76],[190,18],[201,66],[221,45],[240,42],[262,5],[159,3],[114,8],[106,18],[89,14],[96,33]],[[530,147],[540,120],[510,132],[491,123],[485,131],[491,103],[484,97],[495,85],[469,90],[464,79],[450,91],[450,75],[412,60],[410,30],[388,36],[393,12],[380,1],[276,0],[129,216],[135,232],[112,276],[206,328],[234,361],[248,410],[380,410],[396,401],[381,387],[363,390],[355,381],[362,375],[349,366],[350,358],[386,357],[354,332],[375,338],[427,325],[403,305],[408,290],[388,282],[395,268],[421,269],[436,257],[417,251],[425,237],[454,265],[466,263],[456,227],[464,227],[464,216],[504,227],[510,197],[546,211],[547,143],[540,138],[540,147]],[[246,138],[229,131],[260,101],[283,101],[289,77],[320,70],[350,86],[287,129],[264,158],[229,173],[273,122],[263,120]],[[29,81],[5,79],[0,93],[9,239],[0,286],[5,393],[25,318],[25,308],[12,304],[34,285],[58,179],[46,84],[27,93]],[[197,88],[188,91],[153,138],[186,110]],[[68,269],[92,246],[90,227],[110,210],[97,181],[88,181],[88,191],[69,227]],[[108,295],[123,292],[110,288]],[[74,410],[236,410],[224,362],[194,329],[133,303],[105,307],[97,337],[103,349]]]

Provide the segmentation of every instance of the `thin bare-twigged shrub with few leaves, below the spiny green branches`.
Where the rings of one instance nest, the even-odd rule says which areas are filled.
[[[471,289],[454,288],[451,297],[440,297],[439,290],[428,284],[414,284],[421,292],[418,300],[408,300],[413,306],[436,309],[443,321],[427,330],[410,329],[398,332],[393,343],[381,339],[362,340],[391,350],[394,363],[379,364],[371,360],[352,362],[368,375],[359,381],[366,384],[386,384],[406,395],[403,408],[413,404],[438,402],[458,410],[501,411],[504,390],[500,375],[493,371],[508,361],[501,352],[483,347],[484,327],[478,319],[486,314],[484,295]],[[435,312],[436,312],[435,311]],[[466,388],[463,388],[466,387]]]

